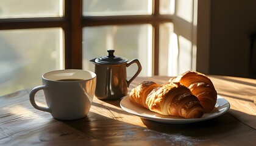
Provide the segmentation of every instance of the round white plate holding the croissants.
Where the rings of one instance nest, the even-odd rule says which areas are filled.
[[[226,113],[227,111],[229,111],[230,108],[229,102],[219,95],[217,97],[215,109],[213,109],[211,113],[206,113],[201,118],[195,119],[185,119],[183,117],[165,116],[162,114],[155,113],[153,111],[150,111],[149,109],[143,108],[141,106],[135,105],[135,103],[130,102],[129,96],[123,97],[123,99],[120,102],[120,106],[124,109],[124,111],[127,111],[130,114],[135,114],[136,116],[139,116],[143,119],[154,120],[156,122],[162,123],[175,124],[193,123],[213,119]]]

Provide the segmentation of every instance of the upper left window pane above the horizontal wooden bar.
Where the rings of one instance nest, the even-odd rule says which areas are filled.
[[[63,0],[0,0],[0,18],[57,17]]]

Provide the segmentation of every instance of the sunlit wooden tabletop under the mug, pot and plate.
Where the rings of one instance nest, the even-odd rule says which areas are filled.
[[[183,125],[158,123],[126,113],[117,101],[94,98],[88,116],[57,120],[29,103],[30,90],[0,97],[0,145],[255,145],[256,80],[209,75],[218,94],[230,102],[228,113]],[[169,77],[138,77],[167,82]],[[129,89],[129,91],[130,91]],[[43,94],[37,101],[44,104]]]

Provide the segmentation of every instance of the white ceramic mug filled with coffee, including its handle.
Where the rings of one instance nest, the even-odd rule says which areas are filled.
[[[76,80],[73,80],[76,79]],[[96,74],[80,69],[51,71],[42,75],[43,85],[36,86],[29,94],[34,108],[51,113],[60,120],[85,117],[91,108],[96,89]],[[35,94],[43,90],[48,107],[35,103]]]

